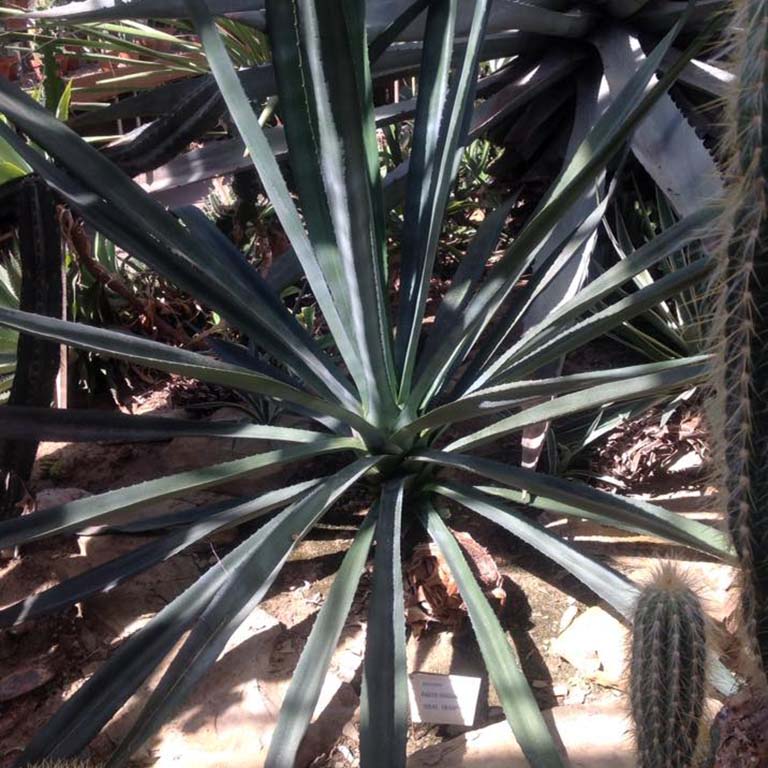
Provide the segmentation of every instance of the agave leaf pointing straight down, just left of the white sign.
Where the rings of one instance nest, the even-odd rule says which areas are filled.
[[[361,768],[405,768],[408,675],[400,561],[404,494],[405,480],[391,480],[384,486],[378,505],[360,693]]]

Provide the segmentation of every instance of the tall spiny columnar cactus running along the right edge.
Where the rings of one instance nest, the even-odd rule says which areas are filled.
[[[768,670],[768,0],[736,0],[724,143],[728,194],[713,351],[721,498],[742,564],[752,682]]]

